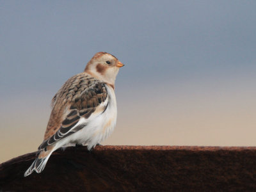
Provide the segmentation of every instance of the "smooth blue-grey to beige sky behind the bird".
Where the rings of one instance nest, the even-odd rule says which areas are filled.
[[[125,64],[104,145],[256,145],[256,1],[0,1],[0,163],[36,151],[96,52]]]

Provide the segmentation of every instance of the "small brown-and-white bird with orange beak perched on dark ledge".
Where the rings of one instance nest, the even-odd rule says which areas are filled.
[[[105,140],[116,124],[115,79],[124,64],[108,52],[98,52],[84,72],[70,77],[52,99],[43,143],[38,157],[24,173],[40,173],[54,150],[87,145],[91,150]]]

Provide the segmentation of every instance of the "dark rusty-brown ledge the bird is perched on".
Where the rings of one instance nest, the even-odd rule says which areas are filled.
[[[97,146],[54,152],[23,177],[35,153],[0,164],[0,191],[255,191],[255,147]]]

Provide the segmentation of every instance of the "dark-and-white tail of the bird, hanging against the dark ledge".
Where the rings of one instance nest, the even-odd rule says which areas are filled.
[[[44,170],[45,165],[46,165],[49,157],[51,156],[52,152],[54,152],[54,150],[47,150],[47,151],[42,150],[40,152],[39,156],[31,164],[31,166],[29,166],[28,170],[26,170],[26,172],[24,173],[24,177],[27,177],[34,171],[36,173],[41,173]]]

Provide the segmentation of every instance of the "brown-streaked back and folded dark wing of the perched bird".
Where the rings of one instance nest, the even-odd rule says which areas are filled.
[[[43,143],[39,150],[52,145],[84,126],[81,118],[88,119],[92,113],[104,113],[108,107],[108,92],[102,81],[81,73],[63,84],[52,99],[52,112],[49,118]]]

